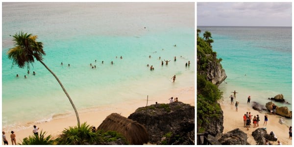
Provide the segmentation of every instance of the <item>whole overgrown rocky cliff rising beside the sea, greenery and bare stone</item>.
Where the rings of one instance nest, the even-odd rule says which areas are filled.
[[[213,51],[211,33],[205,31],[199,37],[197,29],[197,133],[209,132],[218,136],[223,132],[223,112],[218,100],[222,92],[218,86],[226,79],[222,59]]]

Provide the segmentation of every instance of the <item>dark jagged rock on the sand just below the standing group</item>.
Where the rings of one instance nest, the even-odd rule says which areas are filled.
[[[277,141],[278,139],[274,134],[268,134],[267,130],[264,128],[258,128],[252,132],[252,136],[256,141],[256,145],[265,145],[266,139],[269,141]]]

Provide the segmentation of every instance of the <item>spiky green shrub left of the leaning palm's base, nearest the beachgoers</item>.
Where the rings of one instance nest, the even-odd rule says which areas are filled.
[[[30,135],[25,137],[23,142],[18,145],[53,145],[54,140],[51,139],[51,135],[45,137],[46,132],[42,133],[42,130],[39,135]]]

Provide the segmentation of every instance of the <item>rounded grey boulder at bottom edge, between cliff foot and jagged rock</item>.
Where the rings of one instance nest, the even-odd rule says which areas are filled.
[[[250,145],[247,142],[247,134],[239,128],[223,134],[219,142],[221,145]]]

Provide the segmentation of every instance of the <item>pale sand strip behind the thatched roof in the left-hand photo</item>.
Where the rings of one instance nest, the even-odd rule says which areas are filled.
[[[195,87],[193,86],[180,88],[175,91],[171,91],[171,93],[164,93],[152,97],[154,98],[148,99],[148,105],[155,104],[155,101],[153,101],[154,99],[157,99],[158,103],[169,103],[168,99],[170,97],[178,97],[179,101],[195,106]],[[87,122],[87,124],[89,124],[90,126],[93,125],[98,127],[108,115],[112,113],[118,113],[123,117],[127,118],[131,113],[135,112],[137,108],[145,107],[146,102],[147,98],[144,98],[131,101],[124,101],[123,103],[118,104],[100,106],[99,110],[96,110],[95,108],[86,108],[79,112],[80,122]],[[113,109],[109,109],[109,107]],[[43,132],[46,131],[46,136],[51,135],[52,138],[55,139],[58,135],[62,134],[62,131],[65,128],[68,128],[69,126],[76,126],[76,123],[76,116],[74,113],[71,113],[69,116],[66,117],[52,118],[52,120],[49,122],[30,124],[31,127],[15,131],[16,142],[17,144],[21,143],[25,137],[32,135],[33,125],[36,125],[40,128],[39,132],[41,132],[41,130],[43,130]],[[8,134],[10,133],[10,130],[3,131],[5,131],[7,140],[9,140]]]

